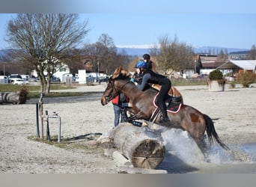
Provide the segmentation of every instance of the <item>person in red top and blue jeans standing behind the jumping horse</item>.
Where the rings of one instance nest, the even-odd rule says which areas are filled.
[[[115,120],[114,125],[118,126],[119,123],[126,122],[127,117],[127,107],[124,107],[124,105],[128,105],[128,98],[124,95],[124,93],[120,93],[118,96],[115,96],[114,99],[112,99],[112,104],[114,108],[114,114],[115,114]],[[121,121],[120,121],[121,117]]]

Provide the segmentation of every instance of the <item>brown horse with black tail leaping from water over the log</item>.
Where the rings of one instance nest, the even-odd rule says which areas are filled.
[[[109,78],[108,86],[101,98],[102,105],[108,104],[119,93],[124,93],[129,97],[129,102],[132,103],[132,117],[129,120],[149,120],[156,107],[153,105],[153,99],[158,93],[156,90],[150,88],[146,91],[141,91],[137,86],[129,81],[130,74],[118,67],[115,73]],[[195,140],[202,153],[205,153],[204,147],[204,132],[207,132],[207,137],[210,145],[213,144],[213,137],[225,150],[229,148],[220,140],[213,120],[207,114],[202,114],[197,109],[189,105],[182,104],[177,113],[168,112],[168,117],[171,119],[173,126],[180,126],[189,132],[189,135]],[[159,124],[159,117],[156,118],[155,123]],[[172,126],[170,126],[172,127]]]

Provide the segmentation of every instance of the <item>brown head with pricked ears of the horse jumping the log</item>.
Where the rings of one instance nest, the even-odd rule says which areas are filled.
[[[122,67],[118,67],[108,80],[108,86],[101,97],[101,104],[107,105],[115,96],[121,93],[121,84],[116,82],[118,79],[129,79],[131,74]]]

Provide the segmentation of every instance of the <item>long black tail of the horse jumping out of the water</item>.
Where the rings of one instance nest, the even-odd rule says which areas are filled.
[[[213,144],[213,137],[215,140],[219,143],[219,145],[224,148],[225,150],[230,150],[227,145],[225,145],[221,139],[219,138],[219,135],[217,134],[215,127],[213,125],[213,120],[207,115],[204,114],[204,120],[206,122],[206,131],[207,136],[209,138],[210,144]]]

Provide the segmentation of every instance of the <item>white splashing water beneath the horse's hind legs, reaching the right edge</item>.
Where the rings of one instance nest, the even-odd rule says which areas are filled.
[[[161,135],[166,153],[176,156],[186,164],[205,163],[203,153],[188,132],[180,129],[162,129]],[[256,161],[256,144],[236,145],[230,148],[231,150],[227,151],[217,143],[213,144],[207,151],[208,161],[215,164]]]

